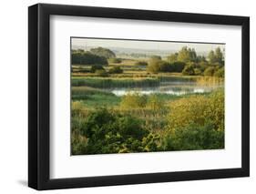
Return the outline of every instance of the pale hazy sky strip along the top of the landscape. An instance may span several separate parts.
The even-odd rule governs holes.
[[[100,39],[100,38],[77,38],[71,39],[73,46],[89,46],[89,47],[121,47],[133,49],[147,50],[179,50],[183,46],[195,48],[198,52],[208,52],[220,46],[223,50],[224,44],[208,44],[208,43],[180,43],[180,42],[159,42],[159,41],[139,41],[139,40],[120,40],[120,39]]]

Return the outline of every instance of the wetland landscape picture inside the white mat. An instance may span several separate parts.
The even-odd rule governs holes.
[[[71,155],[223,149],[225,44],[70,37]]]

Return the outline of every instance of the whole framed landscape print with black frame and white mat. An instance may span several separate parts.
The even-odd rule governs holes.
[[[250,174],[250,19],[28,8],[28,185]]]

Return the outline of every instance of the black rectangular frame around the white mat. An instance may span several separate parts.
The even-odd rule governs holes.
[[[241,168],[206,169],[87,178],[50,179],[49,19],[50,15],[241,26]],[[78,5],[37,4],[28,8],[28,186],[69,189],[179,180],[250,176],[250,18]]]

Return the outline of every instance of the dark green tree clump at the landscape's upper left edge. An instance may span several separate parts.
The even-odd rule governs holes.
[[[75,50],[71,56],[72,64],[79,65],[108,65],[108,60],[104,56],[97,56],[84,50]]]

